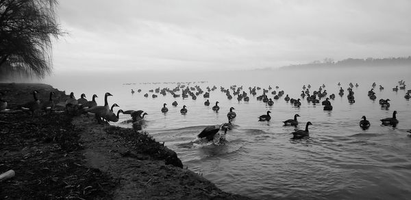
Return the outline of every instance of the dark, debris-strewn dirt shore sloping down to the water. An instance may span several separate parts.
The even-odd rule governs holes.
[[[249,199],[223,192],[184,168],[177,154],[145,132],[99,125],[92,116],[14,111],[65,92],[45,84],[0,84],[0,199]],[[77,94],[79,96],[79,94]],[[64,109],[62,109],[64,110]]]

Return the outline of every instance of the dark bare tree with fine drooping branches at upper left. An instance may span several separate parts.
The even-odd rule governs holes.
[[[0,0],[0,79],[51,73],[51,37],[62,35],[55,5],[56,0]]]

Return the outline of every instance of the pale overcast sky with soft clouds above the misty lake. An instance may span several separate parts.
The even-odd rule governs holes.
[[[232,70],[411,55],[411,1],[69,0],[56,72]]]

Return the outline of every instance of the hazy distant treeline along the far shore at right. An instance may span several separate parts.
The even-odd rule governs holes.
[[[411,56],[408,58],[347,58],[334,62],[331,58],[325,58],[323,62],[316,60],[308,64],[292,64],[282,68],[308,68],[308,67],[332,67],[332,66],[411,66]]]

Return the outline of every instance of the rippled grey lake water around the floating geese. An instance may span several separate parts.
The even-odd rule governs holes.
[[[75,92],[77,98],[81,93],[86,93],[88,99],[97,94],[98,103],[102,104],[104,92],[111,92],[114,96],[109,97],[110,104],[118,103],[123,110],[145,110],[148,113],[143,125],[145,130],[176,151],[185,166],[228,192],[258,199],[408,199],[411,195],[411,138],[406,132],[411,129],[410,101],[404,98],[405,90],[392,90],[401,79],[406,84],[411,82],[409,67],[191,75],[129,73],[104,78],[101,75],[99,79],[57,77],[46,82],[67,93]],[[140,84],[142,82],[161,84]],[[189,86],[199,85],[206,90],[207,86],[215,85],[217,89],[210,92],[210,106],[203,105],[206,99],[202,95],[197,100],[174,99],[169,94],[151,98],[153,93],[148,90],[177,86],[164,82],[196,82]],[[360,85],[353,88],[356,103],[348,103],[347,92],[343,97],[338,96],[338,82],[344,90],[349,82]],[[367,96],[373,82],[377,84],[377,101]],[[236,96],[228,100],[220,92],[220,86],[229,88],[234,84],[243,86],[247,93],[249,86],[266,89],[271,86],[273,90],[279,86],[278,90],[295,99],[300,97],[304,84],[311,84],[311,92],[325,84],[328,95],[336,94],[336,99],[330,100],[334,110],[323,111],[322,105],[306,100],[301,101],[300,108],[295,108],[284,101],[285,95],[274,100],[273,106],[250,95],[249,102],[238,102]],[[384,90],[378,89],[380,84]],[[140,88],[142,92],[132,95],[132,88]],[[273,97],[271,91],[267,94],[270,98]],[[143,97],[145,93],[149,93],[149,97]],[[258,90],[257,96],[261,94],[262,90]],[[382,109],[378,99],[390,99],[390,108]],[[173,101],[179,105],[173,107]],[[215,101],[220,102],[218,113],[211,109]],[[168,104],[166,114],[160,112],[163,103]],[[186,115],[179,112],[182,105],[187,106]],[[197,134],[207,125],[227,122],[227,112],[232,106],[237,117],[234,129],[227,132],[227,142],[199,143]],[[258,116],[267,110],[272,112],[271,121],[258,121]],[[391,117],[394,110],[398,112],[397,127],[382,126],[379,119]],[[282,121],[294,114],[301,116],[299,129],[304,129],[307,121],[312,122],[310,138],[290,139],[295,127],[284,127]],[[367,130],[358,125],[363,115],[371,122]],[[129,118],[121,115],[120,121]],[[131,127],[124,123],[114,125]]]

